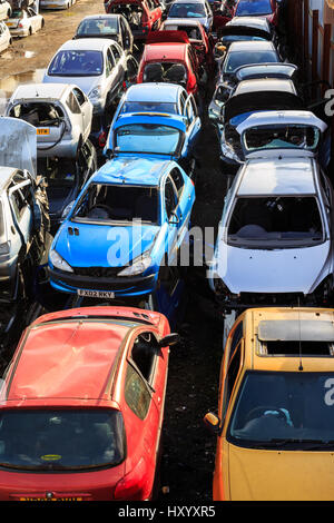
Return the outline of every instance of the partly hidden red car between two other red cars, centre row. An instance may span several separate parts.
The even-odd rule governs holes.
[[[212,71],[214,67],[212,43],[202,23],[196,19],[169,19],[161,26],[163,31],[184,31],[194,47],[199,65]]]

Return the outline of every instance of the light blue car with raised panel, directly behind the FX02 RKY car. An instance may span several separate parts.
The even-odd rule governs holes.
[[[105,147],[106,156],[176,160],[193,177],[194,149],[202,128],[194,97],[185,96],[185,90],[175,85],[168,86],[169,95],[166,85],[153,89],[151,85],[143,86],[132,86],[120,101]]]

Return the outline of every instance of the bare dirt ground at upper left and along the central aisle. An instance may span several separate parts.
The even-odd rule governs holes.
[[[69,11],[43,11],[46,26],[37,34],[16,40],[0,57],[0,89],[8,97],[17,82],[39,80],[57,49],[87,14],[104,12],[102,0],[79,0]],[[208,92],[207,99],[209,99]],[[198,145],[199,169],[193,225],[217,227],[228,177],[218,166],[216,135],[204,117]],[[223,324],[217,316],[204,269],[191,269],[187,282],[187,308],[179,333],[180,346],[171,347],[167,387],[161,486],[166,502],[212,500],[215,438],[203,416],[216,409]]]

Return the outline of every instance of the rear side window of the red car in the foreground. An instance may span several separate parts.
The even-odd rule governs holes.
[[[150,394],[137,371],[128,365],[125,381],[125,401],[140,420],[145,420],[150,405]]]

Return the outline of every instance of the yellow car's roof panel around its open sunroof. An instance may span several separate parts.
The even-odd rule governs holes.
[[[283,338],[288,338],[289,333],[297,330],[297,336],[292,336],[292,339],[293,337],[299,336],[303,338],[303,334],[307,332],[310,334],[310,329],[312,330],[312,328],[316,334],[314,341],[321,338],[322,334],[323,337],[326,338],[328,333],[333,329],[334,309],[313,307],[250,308],[244,314],[244,322],[246,326],[244,333],[246,332],[248,334],[245,337],[244,368],[252,371],[301,372],[299,355],[297,357],[286,357],[259,354],[258,339],[269,339],[276,330],[284,333]],[[274,322],[277,322],[277,325],[275,325]],[[281,325],[278,325],[278,322]],[[332,334],[330,334],[330,337]],[[275,336],[277,336],[277,334],[275,334]],[[312,335],[310,337],[312,337]],[[296,342],[297,341],[298,339],[296,339]],[[334,357],[330,354],[325,355],[325,357],[324,354],[321,354],[318,357],[303,357],[302,354],[302,364],[303,372],[334,371]]]

